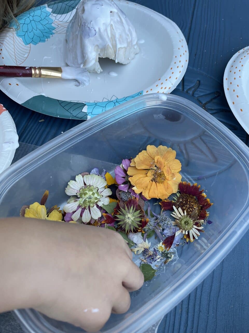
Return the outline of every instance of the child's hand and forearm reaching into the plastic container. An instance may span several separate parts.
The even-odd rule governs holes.
[[[34,219],[0,221],[0,311],[33,307],[98,331],[129,309],[143,274],[117,232]]]

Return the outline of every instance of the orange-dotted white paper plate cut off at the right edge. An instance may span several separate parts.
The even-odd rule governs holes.
[[[234,116],[249,134],[249,46],[235,53],[229,60],[223,85]]]

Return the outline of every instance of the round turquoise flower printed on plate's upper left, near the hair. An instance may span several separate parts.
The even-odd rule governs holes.
[[[19,29],[16,23],[12,23],[11,27],[17,29],[16,34],[22,38],[25,45],[37,45],[54,34],[53,19],[49,15],[46,6],[38,6],[17,17]]]

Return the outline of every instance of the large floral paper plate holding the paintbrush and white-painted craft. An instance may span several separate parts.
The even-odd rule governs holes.
[[[188,65],[188,47],[181,30],[149,8],[115,1],[138,36],[140,52],[130,64],[100,59],[103,72],[90,73],[87,87],[77,88],[71,80],[4,78],[1,90],[32,110],[72,119],[88,119],[143,94],[173,91]],[[19,30],[0,34],[0,64],[65,66],[66,27],[79,2],[56,1],[20,15]],[[118,76],[110,76],[110,72]]]

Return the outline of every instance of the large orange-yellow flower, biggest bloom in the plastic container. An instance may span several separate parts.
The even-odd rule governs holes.
[[[127,174],[135,193],[142,193],[146,199],[167,199],[178,190],[181,167],[176,151],[149,145],[131,161]]]

